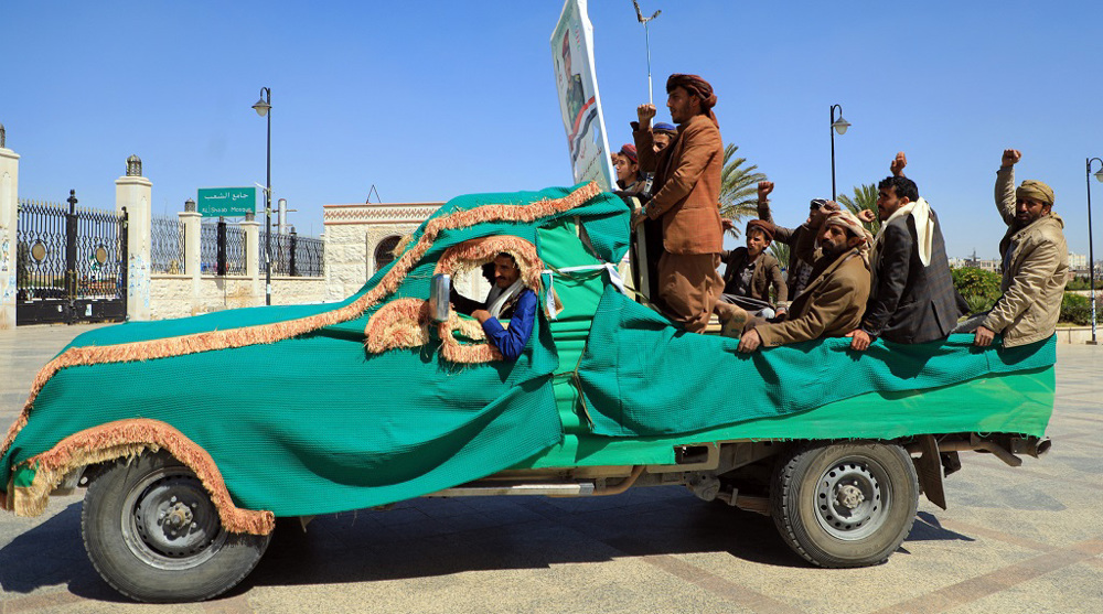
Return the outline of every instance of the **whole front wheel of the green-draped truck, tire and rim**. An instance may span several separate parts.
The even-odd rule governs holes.
[[[81,529],[99,575],[151,603],[203,601],[229,590],[271,538],[223,529],[195,474],[164,452],[104,470],[88,486]]]

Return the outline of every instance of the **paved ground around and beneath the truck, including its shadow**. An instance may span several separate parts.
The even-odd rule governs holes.
[[[87,327],[0,331],[0,421],[35,369]],[[963,456],[950,510],[925,499],[888,563],[811,568],[772,523],[681,488],[600,499],[422,499],[280,526],[245,582],[208,603],[122,601],[81,540],[79,496],[0,515],[0,612],[1103,611],[1103,348],[1058,347],[1053,450],[1010,468]]]

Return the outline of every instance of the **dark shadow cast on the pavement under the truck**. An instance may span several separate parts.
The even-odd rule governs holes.
[[[908,540],[972,538],[920,513]],[[298,519],[279,519],[257,569],[226,596],[258,585],[408,580],[697,552],[728,552],[767,565],[808,565],[782,542],[770,518],[706,504],[681,488],[590,499],[416,499],[387,511],[318,517],[306,532]],[[87,559],[79,502],[0,549],[6,593],[57,584],[85,599],[121,599]]]

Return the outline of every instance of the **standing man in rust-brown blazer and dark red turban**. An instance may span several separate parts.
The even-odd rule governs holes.
[[[640,170],[655,173],[651,202],[633,220],[662,219],[663,255],[658,259],[658,306],[686,331],[699,333],[708,324],[724,281],[716,268],[724,249],[720,213],[720,171],[724,142],[713,114],[716,95],[696,75],[671,75],[666,106],[678,133],[665,149],[654,150],[651,119],[654,105],[641,105],[633,132]]]

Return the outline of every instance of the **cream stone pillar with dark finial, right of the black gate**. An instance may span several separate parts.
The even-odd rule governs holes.
[[[127,159],[127,174],[115,180],[115,211],[127,208],[127,319],[149,320],[150,235],[153,184],[141,176],[141,160]]]

